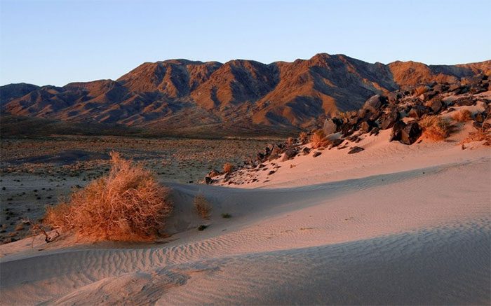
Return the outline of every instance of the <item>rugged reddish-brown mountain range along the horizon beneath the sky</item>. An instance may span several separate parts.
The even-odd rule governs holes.
[[[125,125],[163,134],[278,134],[357,110],[372,95],[490,73],[491,61],[370,64],[328,54],[271,64],[166,60],[144,63],[116,81],[5,85],[0,107],[3,115]]]

